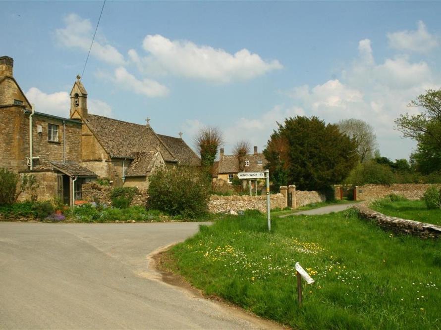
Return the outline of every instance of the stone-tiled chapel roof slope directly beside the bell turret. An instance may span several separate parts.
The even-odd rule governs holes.
[[[135,158],[136,152],[161,151],[166,162],[177,159],[150,126],[89,114],[86,123],[110,157]]]

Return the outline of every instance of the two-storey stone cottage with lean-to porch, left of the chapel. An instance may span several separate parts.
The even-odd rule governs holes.
[[[40,199],[73,204],[81,185],[97,175],[81,165],[80,121],[33,110],[12,74],[13,59],[0,57],[0,168],[32,173]],[[25,197],[25,196],[23,196]]]

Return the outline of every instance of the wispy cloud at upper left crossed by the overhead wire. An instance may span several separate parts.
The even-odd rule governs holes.
[[[55,30],[55,38],[58,43],[68,48],[79,48],[88,52],[94,28],[88,19],[82,19],[77,14],[69,14],[64,17],[65,27]],[[124,56],[113,46],[107,43],[103,37],[96,37],[91,55],[110,64],[123,65]]]

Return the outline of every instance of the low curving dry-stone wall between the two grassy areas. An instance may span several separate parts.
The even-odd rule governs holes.
[[[366,205],[357,205],[355,207],[358,209],[362,218],[375,221],[380,227],[392,230],[396,233],[405,233],[419,236],[421,238],[438,238],[441,236],[440,226],[414,220],[389,217],[380,212],[371,210]]]

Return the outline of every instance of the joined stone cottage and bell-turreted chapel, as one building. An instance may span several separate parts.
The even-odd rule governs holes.
[[[81,199],[82,184],[97,178],[144,190],[160,166],[200,166],[181,137],[156,134],[149,123],[89,114],[79,76],[70,93],[69,118],[34,111],[12,69],[13,59],[1,56],[0,168],[32,173],[39,199],[58,196],[72,205]]]

